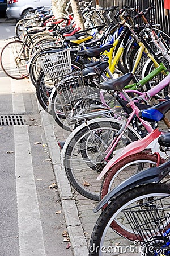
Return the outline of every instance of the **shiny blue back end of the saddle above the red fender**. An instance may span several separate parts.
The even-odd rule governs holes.
[[[141,111],[139,117],[148,122],[154,122],[162,120],[164,118],[164,114],[157,109],[145,109]]]

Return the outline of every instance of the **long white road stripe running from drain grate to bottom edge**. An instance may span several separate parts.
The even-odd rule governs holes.
[[[28,126],[14,125],[20,256],[45,255]]]

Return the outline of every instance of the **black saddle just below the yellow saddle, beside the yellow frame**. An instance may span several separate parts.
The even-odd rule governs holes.
[[[100,48],[90,48],[90,49],[78,52],[78,55],[99,58],[101,53],[103,53],[108,49],[111,49],[112,47],[113,47],[112,44],[109,44],[108,46],[102,46]]]

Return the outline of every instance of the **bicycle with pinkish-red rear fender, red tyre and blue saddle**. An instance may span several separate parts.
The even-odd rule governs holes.
[[[170,109],[169,104],[170,100],[167,100],[143,110],[141,117],[150,121],[163,120],[169,129],[170,121],[165,117],[165,113]],[[160,164],[163,164],[169,159],[170,148],[168,146],[160,146],[160,144],[165,145],[165,142],[161,143],[162,138],[164,138],[160,137],[162,134],[164,134],[162,129],[157,128],[153,130],[145,138],[141,139],[141,141],[135,141],[126,146],[120,155],[114,156],[108,162],[99,177],[97,177],[99,180],[104,176],[100,190],[101,199],[113,188],[117,187],[118,184],[122,183],[122,181],[128,179],[128,177],[147,168],[160,166]],[[106,206],[107,204],[104,205],[104,208]]]

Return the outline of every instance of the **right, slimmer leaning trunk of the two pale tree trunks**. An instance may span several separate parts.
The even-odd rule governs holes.
[[[84,20],[83,20],[82,14],[80,13],[78,1],[71,0],[70,2],[71,2],[73,15],[74,15],[74,20],[76,22],[76,27],[80,27],[82,28],[82,30],[84,30]]]

